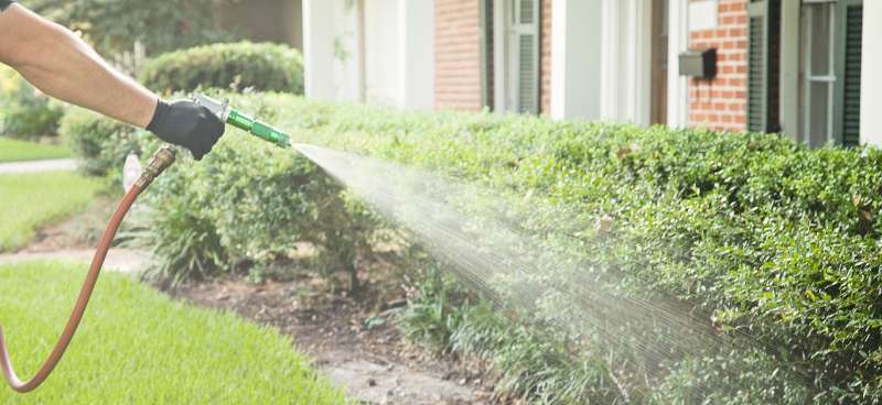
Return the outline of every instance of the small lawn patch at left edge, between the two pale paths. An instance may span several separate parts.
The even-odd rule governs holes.
[[[82,209],[100,187],[73,172],[0,175],[0,252],[23,247],[36,227]]]

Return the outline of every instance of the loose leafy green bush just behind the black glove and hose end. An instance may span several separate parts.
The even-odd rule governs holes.
[[[244,111],[268,111],[257,97],[227,96]],[[90,174],[115,179],[130,151],[147,161],[159,146],[146,131],[84,110],[65,117],[63,133]],[[355,262],[369,253],[376,219],[319,167],[232,128],[203,161],[185,156],[146,194],[154,209],[132,232],[160,259],[152,276],[181,282],[247,271],[305,242],[329,273],[347,272],[357,293]]]

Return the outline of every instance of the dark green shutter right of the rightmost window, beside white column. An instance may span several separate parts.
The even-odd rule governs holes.
[[[842,144],[856,146],[860,144],[863,6],[848,3],[843,13]]]

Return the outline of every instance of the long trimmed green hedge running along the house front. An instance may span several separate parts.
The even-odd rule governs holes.
[[[445,172],[518,200],[533,196],[535,210],[521,223],[534,223],[550,241],[576,237],[561,249],[604,264],[594,267],[610,272],[614,284],[678,297],[695,314],[708,314],[708,324],[747,333],[771,355],[789,359],[783,369],[810,381],[805,391],[783,382],[763,387],[756,384],[767,381],[744,372],[730,381],[756,386],[757,396],[728,392],[729,384],[714,403],[882,397],[878,149],[809,150],[766,134],[266,101],[306,142]],[[580,215],[561,223],[561,208]],[[614,221],[609,236],[580,236],[607,217]],[[774,364],[765,352],[717,354],[743,355],[739,370]],[[659,386],[719,374],[725,361],[684,359],[669,365],[677,373]],[[607,395],[598,393],[601,402]]]

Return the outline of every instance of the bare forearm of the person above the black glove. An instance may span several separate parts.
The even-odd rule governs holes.
[[[0,13],[0,62],[41,91],[146,128],[158,97],[111,68],[85,42],[21,6]]]

